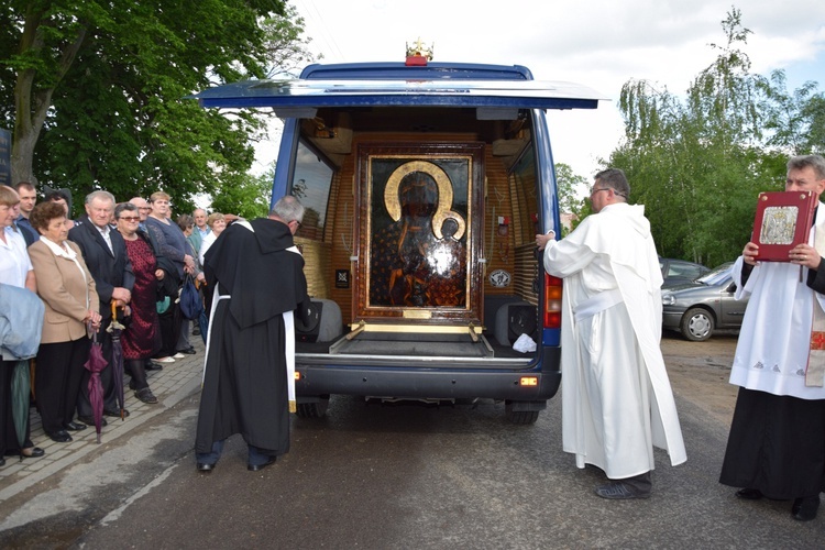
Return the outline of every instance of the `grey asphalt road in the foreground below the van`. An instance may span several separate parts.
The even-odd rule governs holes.
[[[230,440],[195,470],[198,396],[0,508],[2,548],[822,548],[825,517],[739,502],[717,482],[735,337],[666,337],[689,460],[657,451],[653,495],[608,502],[561,449],[561,400],[534,426],[504,405],[367,405],[333,397],[293,419],[292,451],[248,472]]]

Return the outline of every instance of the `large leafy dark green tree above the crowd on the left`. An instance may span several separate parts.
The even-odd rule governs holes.
[[[283,0],[16,0],[0,22],[14,52],[0,59],[0,95],[13,90],[15,105],[1,112],[14,125],[14,179],[36,172],[119,198],[164,189],[178,207],[245,174],[250,140],[265,131],[253,112],[226,117],[185,97],[308,55]]]

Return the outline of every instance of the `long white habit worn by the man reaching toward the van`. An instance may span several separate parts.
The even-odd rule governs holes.
[[[652,447],[688,460],[661,354],[661,271],[645,207],[608,205],[544,268],[564,279],[562,439],[576,465],[619,480],[653,470]]]

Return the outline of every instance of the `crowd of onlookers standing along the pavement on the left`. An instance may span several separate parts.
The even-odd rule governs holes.
[[[73,432],[95,425],[88,384],[92,374],[84,366],[92,341],[100,343],[108,363],[99,373],[101,424],[106,426],[105,417],[129,416],[116,395],[114,342],[107,331],[113,322],[123,327],[118,341],[123,382],[143,403],[157,403],[146,371],[196,353],[189,341],[191,320],[177,301],[187,277],[206,286],[200,248],[215,240],[207,212],[197,209],[173,220],[172,199],[162,191],[148,200],[118,202],[112,194],[97,190],[86,197],[85,213],[75,220],[65,190],[50,191],[38,202],[31,183],[0,186],[0,300],[18,306],[19,295],[10,298],[6,290],[26,289],[32,304],[42,304],[10,309],[13,322],[2,334],[0,465],[8,455],[45,454],[30,438],[32,405],[45,436],[56,442],[69,442]],[[6,343],[15,339],[29,345],[26,351],[8,349]],[[26,374],[30,367],[34,373],[24,396],[12,382],[21,362]],[[14,410],[21,399],[26,405],[24,422]]]

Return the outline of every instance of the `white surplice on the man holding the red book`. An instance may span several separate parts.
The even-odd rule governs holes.
[[[820,202],[809,244],[825,230],[825,205]],[[820,245],[817,244],[817,249]],[[743,258],[734,264],[734,280],[741,280]],[[802,280],[800,280],[802,270]],[[814,299],[825,296],[807,285],[807,267],[787,262],[758,262],[735,297],[750,297],[743,319],[730,383],[773,395],[825,399],[825,387],[805,386]]]

